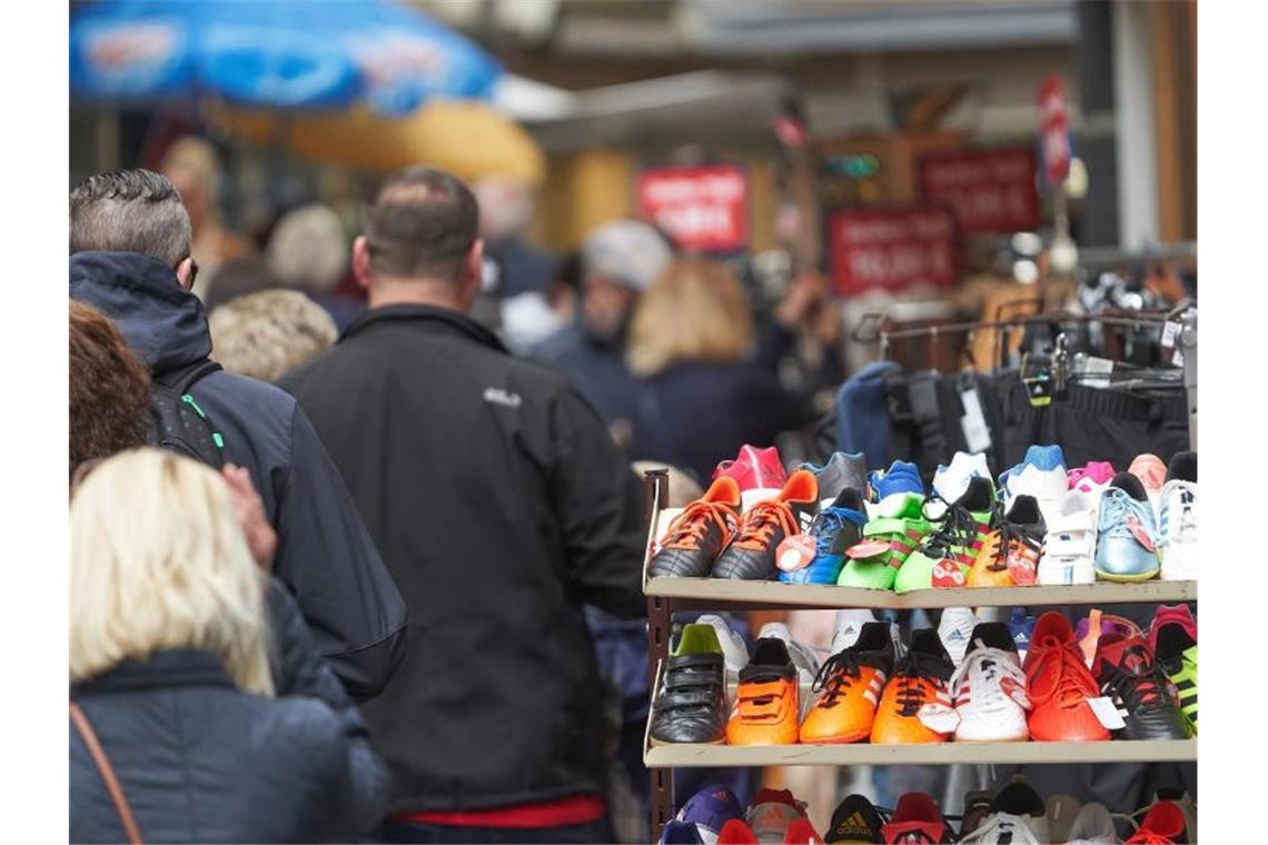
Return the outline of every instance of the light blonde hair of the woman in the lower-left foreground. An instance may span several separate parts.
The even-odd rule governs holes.
[[[120,452],[71,499],[71,680],[200,649],[241,689],[271,696],[265,579],[216,471],[155,448]]]

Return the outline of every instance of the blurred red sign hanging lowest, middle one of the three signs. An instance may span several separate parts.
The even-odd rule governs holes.
[[[832,286],[839,296],[956,283],[956,229],[942,208],[846,209],[828,218]]]

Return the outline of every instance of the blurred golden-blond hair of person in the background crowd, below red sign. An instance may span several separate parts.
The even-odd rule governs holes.
[[[677,258],[639,300],[626,364],[649,376],[673,364],[734,364],[753,342],[753,318],[739,280],[710,258]]]

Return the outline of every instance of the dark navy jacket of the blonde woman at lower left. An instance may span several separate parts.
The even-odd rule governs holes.
[[[216,656],[161,651],[71,687],[146,842],[346,841],[378,807],[351,745],[355,711],[238,690]],[[70,841],[126,841],[70,726]]]

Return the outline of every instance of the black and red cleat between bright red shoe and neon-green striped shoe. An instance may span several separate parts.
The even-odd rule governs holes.
[[[1118,708],[1129,740],[1187,740],[1188,720],[1175,702],[1172,682],[1141,636],[1102,633],[1092,671],[1101,692]]]

